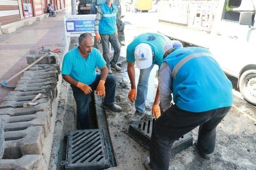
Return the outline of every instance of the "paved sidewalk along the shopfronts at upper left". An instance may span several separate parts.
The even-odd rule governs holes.
[[[28,66],[26,57],[29,51],[44,49],[59,49],[64,41],[64,15],[70,15],[71,10],[57,13],[56,17],[34,21],[32,25],[25,25],[10,34],[0,35],[0,82],[8,80],[13,75]],[[8,83],[16,86],[20,76]],[[0,86],[0,104],[11,90]]]

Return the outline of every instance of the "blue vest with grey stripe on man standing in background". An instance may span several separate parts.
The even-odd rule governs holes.
[[[112,4],[112,9],[104,2],[100,6],[103,16],[99,22],[99,33],[112,35],[117,31],[116,28],[116,6]]]

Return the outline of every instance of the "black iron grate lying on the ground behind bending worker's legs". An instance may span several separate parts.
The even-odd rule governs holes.
[[[131,123],[126,133],[147,150],[150,150],[150,138],[155,120],[156,118],[150,118],[149,120]],[[175,154],[181,152],[191,145],[193,145],[193,136],[192,133],[189,132],[173,143],[171,153]]]

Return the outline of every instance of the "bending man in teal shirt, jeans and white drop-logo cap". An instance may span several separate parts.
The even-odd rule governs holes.
[[[128,98],[131,102],[135,101],[135,114],[131,122],[140,121],[144,118],[145,102],[148,93],[148,78],[154,64],[160,68],[164,56],[164,45],[170,41],[168,37],[161,33],[143,33],[136,37],[126,50],[126,59],[128,61],[127,72],[131,82],[131,90]],[[140,69],[140,77],[135,85],[134,65]],[[159,92],[156,90],[156,98],[152,106],[152,115],[160,115]]]

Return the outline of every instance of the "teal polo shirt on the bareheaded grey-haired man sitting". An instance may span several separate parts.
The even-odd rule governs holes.
[[[92,52],[87,59],[84,59],[77,47],[68,51],[64,56],[61,73],[90,85],[96,78],[96,66],[102,68],[105,65],[106,62],[98,49],[92,48]]]

